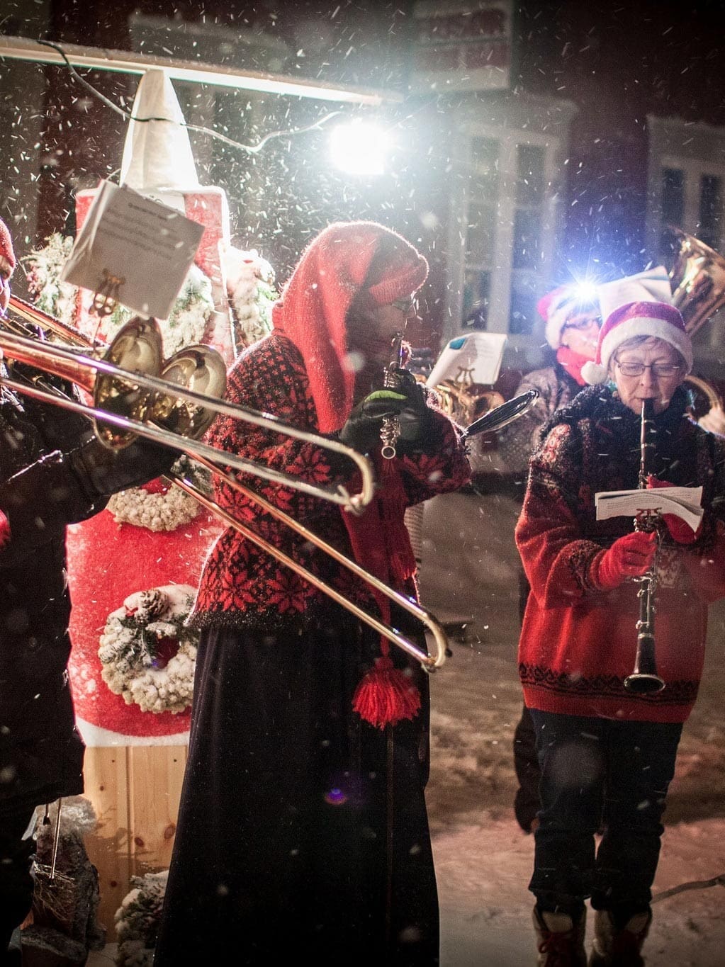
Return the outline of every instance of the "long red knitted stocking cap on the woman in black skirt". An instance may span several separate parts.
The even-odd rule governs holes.
[[[347,312],[412,295],[428,262],[402,235],[375,221],[336,221],[302,253],[272,309],[305,361],[322,433],[340,429],[352,409],[355,374],[347,362]]]

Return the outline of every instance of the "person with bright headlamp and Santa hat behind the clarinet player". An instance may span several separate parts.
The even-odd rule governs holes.
[[[575,285],[562,285],[537,304],[544,320],[546,340],[556,353],[552,366],[534,369],[522,379],[516,393],[536,390],[538,398],[519,419],[498,434],[498,454],[504,469],[514,477],[517,494],[523,499],[529,468],[539,430],[561,406],[566,406],[587,383],[582,366],[593,360],[601,325],[599,303],[583,298]],[[524,616],[529,582],[519,574],[519,618]],[[525,833],[536,823],[539,808],[539,767],[536,759],[533,725],[526,706],[514,729],[514,768],[518,786],[514,795],[514,815]]]

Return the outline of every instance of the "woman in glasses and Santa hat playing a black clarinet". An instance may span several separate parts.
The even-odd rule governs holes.
[[[725,439],[688,415],[691,367],[678,309],[616,309],[583,369],[594,385],[542,428],[531,458],[516,542],[531,586],[519,672],[541,769],[529,883],[540,965],[588,963],[587,898],[590,967],[644,963],[668,784],[700,683],[708,605],[725,595]],[[696,533],[667,513],[649,533],[631,517],[596,519],[597,492],[639,485],[646,399],[656,429],[648,485],[702,485]],[[638,694],[623,683],[637,648],[636,578],[650,566],[665,686]]]

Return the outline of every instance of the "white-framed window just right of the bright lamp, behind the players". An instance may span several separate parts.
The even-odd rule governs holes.
[[[477,329],[540,342],[536,302],[559,235],[567,104],[502,99],[487,104],[485,125],[459,110],[446,337]],[[556,130],[547,124],[552,116],[560,118]]]

